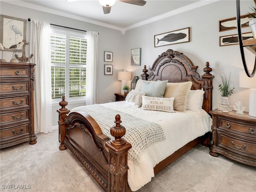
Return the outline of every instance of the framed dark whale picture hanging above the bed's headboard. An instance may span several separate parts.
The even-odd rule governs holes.
[[[183,28],[154,36],[154,46],[160,47],[171,44],[190,42],[190,28]]]

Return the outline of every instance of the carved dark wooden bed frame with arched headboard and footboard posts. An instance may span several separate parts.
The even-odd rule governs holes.
[[[212,108],[212,79],[214,78],[210,74],[212,68],[206,62],[206,67],[203,69],[205,74],[202,76],[196,72],[197,68],[198,66],[194,66],[184,54],[168,49],[154,61],[150,74],[144,66],[141,76],[144,80],[152,81],[192,81],[192,90],[204,89],[203,109],[209,113]],[[120,116],[116,115],[115,121],[113,119],[116,126],[110,129],[110,133],[114,136],[110,140],[102,133],[90,115],[81,115],[76,112],[68,114],[70,110],[66,108],[67,104],[65,96],[62,96],[61,108],[57,110],[59,113],[59,149],[68,148],[105,191],[130,191],[127,182],[127,157],[128,150],[132,146],[122,138],[126,130],[120,124],[122,122]],[[210,133],[196,138],[164,159],[155,166],[154,173],[157,174],[199,143],[209,146]]]

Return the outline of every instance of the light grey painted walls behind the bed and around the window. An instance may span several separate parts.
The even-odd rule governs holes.
[[[249,7],[253,6],[252,0],[241,1],[241,15],[250,11]],[[248,111],[248,89],[239,88],[239,71],[243,70],[240,50],[238,45],[219,46],[219,37],[225,35],[237,34],[237,30],[228,30],[219,32],[219,20],[236,16],[235,0],[220,0],[212,4],[208,4],[187,12],[176,14],[169,18],[164,18],[132,30],[128,30],[124,35],[120,31],[97,26],[94,24],[56,16],[45,12],[40,12],[12,4],[0,2],[0,12],[3,15],[13,16],[23,19],[44,20],[46,22],[81,30],[99,32],[99,58],[98,58],[98,92],[99,103],[114,101],[114,93],[120,92],[121,82],[117,80],[117,72],[120,70],[132,71],[132,76],[140,76],[143,66],[152,66],[154,60],[159,54],[167,49],[173,49],[183,52],[194,65],[198,65],[198,73],[204,74],[202,69],[205,63],[210,62],[213,68],[212,74],[215,76],[213,81],[213,109],[217,108],[220,103],[221,95],[218,91],[218,83],[220,82],[219,72],[229,75],[231,72],[231,80],[234,82],[234,94],[230,96],[230,104],[238,101],[246,106]],[[12,11],[15,10],[15,11]],[[182,44],[174,44],[154,48],[154,35],[181,28],[190,27],[190,42]],[[242,32],[249,32],[250,28],[243,28]],[[30,40],[30,22],[27,22],[27,38]],[[130,50],[132,48],[142,48],[142,66],[130,65]],[[113,52],[113,75],[104,76],[104,51]],[[26,53],[27,56],[30,52]],[[12,58],[12,53],[4,52],[4,58],[8,61]],[[254,63],[254,60],[249,60]],[[68,108],[73,108],[80,104],[69,104]],[[57,125],[58,106],[53,106],[53,124]]]

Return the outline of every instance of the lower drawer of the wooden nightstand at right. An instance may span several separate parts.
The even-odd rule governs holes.
[[[256,156],[256,142],[250,140],[240,140],[239,138],[223,134],[218,134],[218,146],[228,148],[238,154],[252,154]]]

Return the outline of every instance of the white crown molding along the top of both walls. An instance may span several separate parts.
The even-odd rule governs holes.
[[[127,26],[125,28],[121,28],[121,27],[118,27],[118,26],[106,24],[106,23],[99,22],[99,21],[96,21],[96,20],[84,18],[84,17],[81,17],[81,16],[76,16],[76,15],[73,15],[73,14],[68,14],[68,13],[61,12],[61,11],[56,11],[56,10],[53,10],[53,9],[50,9],[50,8],[45,8],[43,6],[38,6],[38,5],[35,5],[35,4],[32,4],[32,3],[29,3],[29,2],[22,2],[20,0],[14,0],[14,1],[1,0],[1,1],[5,2],[5,3],[9,3],[9,4],[14,4],[14,5],[17,5],[17,6],[22,6],[22,7],[42,11],[42,12],[47,12],[47,13],[50,13],[50,14],[55,14],[55,15],[59,15],[59,16],[63,16],[63,17],[68,17],[68,18],[80,20],[80,21],[83,21],[83,22],[88,22],[88,23],[91,23],[91,24],[103,26],[103,27],[106,27],[106,28],[111,28],[111,29],[114,29],[114,30],[119,30],[119,31],[122,32],[122,34],[124,34],[127,30],[137,28],[137,27],[140,27],[140,26],[143,26],[143,25],[146,25],[146,24],[149,24],[149,23],[152,23],[152,22],[155,22],[155,21],[173,16],[173,15],[176,15],[176,14],[180,14],[182,12],[186,12],[188,10],[192,10],[192,9],[195,9],[195,8],[207,5],[207,4],[211,4],[211,3],[219,1],[219,0],[201,0],[199,2],[190,4],[188,6],[184,6],[182,8],[178,8],[176,10],[172,10],[170,12],[155,16],[153,18],[144,20],[142,22],[138,22],[136,24]]]

